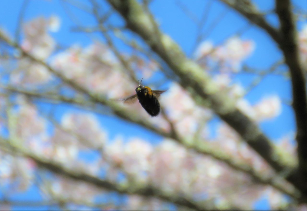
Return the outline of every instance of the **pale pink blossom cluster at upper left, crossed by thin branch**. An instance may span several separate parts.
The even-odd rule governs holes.
[[[25,23],[21,48],[37,59],[47,59],[56,47],[56,42],[49,35],[48,30],[55,32],[59,28],[59,22],[58,17],[52,16],[49,19],[35,18]],[[17,68],[10,75],[11,83],[17,85],[33,86],[44,84],[51,79],[52,76],[45,66],[22,55],[17,61]]]

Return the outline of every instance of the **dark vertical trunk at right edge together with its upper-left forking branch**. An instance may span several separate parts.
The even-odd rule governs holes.
[[[237,10],[252,23],[264,29],[284,54],[289,67],[292,82],[293,110],[297,125],[297,151],[299,157],[299,170],[289,176],[289,180],[307,196],[307,94],[304,70],[299,61],[297,47],[297,33],[295,20],[292,14],[290,0],[276,0],[276,13],[280,20],[280,29],[277,30],[266,22],[263,16],[247,0],[221,0],[228,6]],[[307,198],[307,197],[306,197]],[[307,201],[307,199],[305,199]]]

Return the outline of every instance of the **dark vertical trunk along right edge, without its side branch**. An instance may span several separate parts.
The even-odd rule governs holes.
[[[304,69],[300,63],[297,30],[290,0],[276,0],[282,41],[278,42],[289,66],[293,93],[293,110],[297,125],[298,177],[307,195],[307,94]],[[306,199],[307,201],[307,199]]]

